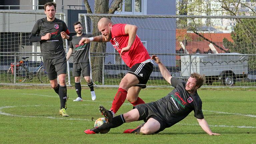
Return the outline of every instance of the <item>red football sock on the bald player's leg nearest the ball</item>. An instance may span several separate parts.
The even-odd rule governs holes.
[[[112,107],[110,110],[112,110],[114,113],[116,113],[121,105],[124,103],[127,96],[127,91],[122,88],[118,88],[118,91],[116,93],[116,96],[112,102]]]

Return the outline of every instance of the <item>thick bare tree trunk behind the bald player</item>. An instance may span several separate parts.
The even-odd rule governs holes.
[[[94,1],[94,13],[95,14],[113,14],[118,8],[119,4],[122,3],[122,0],[113,0],[111,6],[109,7],[109,0],[95,0]],[[84,0],[87,13],[92,13],[88,0]],[[97,36],[101,35],[97,28],[97,23],[100,18],[92,18],[92,35]],[[91,44],[91,53],[105,53],[106,52],[106,43],[92,42]],[[102,64],[103,57],[92,57],[91,66],[92,66],[92,77],[94,82],[102,82]]]

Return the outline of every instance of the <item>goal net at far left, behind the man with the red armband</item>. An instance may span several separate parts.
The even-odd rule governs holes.
[[[44,12],[0,11],[0,84],[49,85],[40,42],[30,43],[31,30]],[[63,13],[56,18],[64,21]],[[66,41],[64,41],[66,49]],[[69,75],[67,85],[70,85]]]

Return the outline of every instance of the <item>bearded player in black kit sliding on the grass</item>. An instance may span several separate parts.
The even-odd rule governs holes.
[[[85,130],[84,133],[96,134],[102,130],[118,127],[125,122],[144,120],[146,123],[139,125],[135,129],[127,129],[124,133],[154,134],[173,126],[194,111],[194,116],[199,125],[207,134],[220,135],[213,133],[209,128],[202,112],[202,101],[197,94],[197,89],[205,83],[205,76],[193,73],[188,81],[185,82],[172,77],[156,55],[151,58],[158,64],[161,74],[174,89],[167,96],[155,102],[136,105],[134,106],[135,109],[114,117],[112,122]]]

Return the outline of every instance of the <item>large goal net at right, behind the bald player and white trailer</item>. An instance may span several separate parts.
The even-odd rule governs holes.
[[[100,35],[102,17],[136,25],[150,56],[174,77],[186,80],[197,72],[206,76],[206,86],[255,86],[255,17],[79,14],[84,32]],[[94,82],[119,85],[129,67],[112,44],[91,42],[90,52]],[[147,86],[167,85],[154,64]]]

